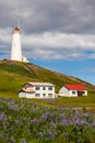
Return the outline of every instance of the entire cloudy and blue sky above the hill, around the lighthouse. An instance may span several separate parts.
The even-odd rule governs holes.
[[[95,85],[95,0],[0,0],[0,59],[19,20],[31,63]]]

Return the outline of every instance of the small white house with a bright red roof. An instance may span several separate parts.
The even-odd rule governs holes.
[[[59,97],[81,97],[87,96],[87,89],[83,85],[66,84],[59,90]]]

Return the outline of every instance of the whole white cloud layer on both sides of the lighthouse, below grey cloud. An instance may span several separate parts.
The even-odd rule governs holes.
[[[0,51],[11,48],[12,30],[0,30]],[[8,46],[9,45],[9,46]],[[95,58],[95,35],[44,32],[41,34],[22,33],[23,53],[37,58],[79,59]],[[9,48],[9,50],[8,50]],[[87,53],[91,51],[91,53]]]

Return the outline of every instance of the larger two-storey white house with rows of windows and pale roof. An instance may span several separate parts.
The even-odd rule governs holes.
[[[19,92],[20,98],[55,98],[55,85],[49,82],[26,82]]]

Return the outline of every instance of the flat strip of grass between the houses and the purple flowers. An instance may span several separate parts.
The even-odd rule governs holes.
[[[22,100],[17,97],[17,92],[12,94],[8,92],[7,95],[4,92],[1,92],[0,97],[3,98],[13,98]],[[86,108],[87,110],[92,110],[95,112],[95,92],[88,92],[88,96],[86,97],[62,97],[62,98],[56,98],[56,99],[26,99],[28,102],[35,102],[37,105],[41,106],[48,106],[48,107],[61,107],[61,108],[78,108],[83,109]]]

